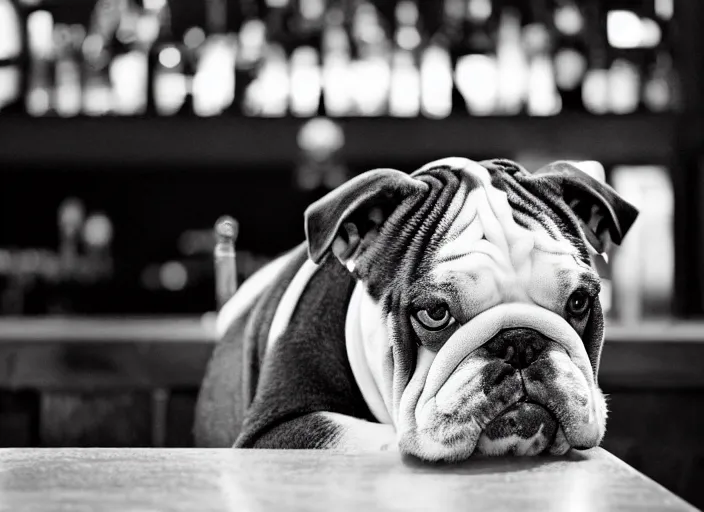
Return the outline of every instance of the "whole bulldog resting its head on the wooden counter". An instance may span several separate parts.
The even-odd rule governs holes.
[[[599,445],[593,256],[637,215],[596,162],[446,158],[351,179],[220,311],[197,445],[426,461]]]

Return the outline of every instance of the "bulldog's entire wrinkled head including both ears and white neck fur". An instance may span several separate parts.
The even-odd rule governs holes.
[[[529,173],[464,158],[373,170],[309,207],[311,259],[331,252],[358,281],[348,353],[402,452],[456,461],[601,442],[590,254],[636,216],[599,164]]]

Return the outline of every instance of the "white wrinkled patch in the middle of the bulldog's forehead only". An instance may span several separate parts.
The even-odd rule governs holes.
[[[444,270],[476,273],[493,265],[505,273],[554,273],[555,280],[574,281],[591,270],[582,257],[578,234],[569,233],[546,197],[526,190],[519,179],[524,170],[513,173],[487,169],[466,158],[431,162],[415,176],[454,173],[459,187],[439,226],[441,236],[427,263],[435,273]]]

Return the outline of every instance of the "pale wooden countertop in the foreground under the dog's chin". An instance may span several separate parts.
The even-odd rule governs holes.
[[[3,449],[2,511],[689,511],[602,449],[431,466],[397,453]]]

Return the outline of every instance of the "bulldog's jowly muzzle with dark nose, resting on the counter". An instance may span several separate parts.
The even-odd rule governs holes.
[[[606,408],[586,349],[557,314],[502,304],[436,353],[420,348],[399,404],[402,451],[427,460],[561,454],[601,442]]]

